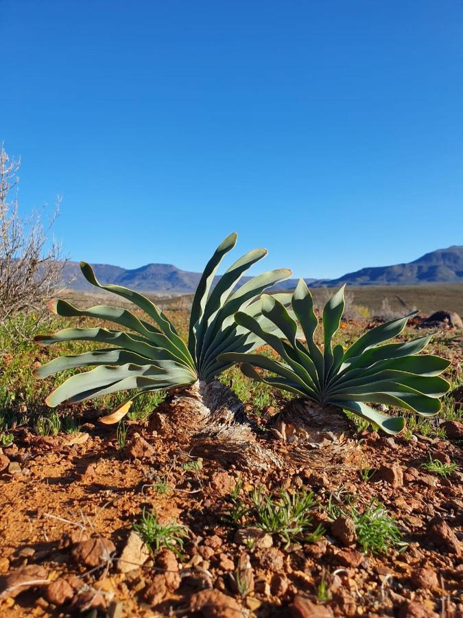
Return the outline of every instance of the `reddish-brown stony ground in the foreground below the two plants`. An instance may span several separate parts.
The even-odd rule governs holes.
[[[173,405],[129,421],[125,439],[91,414],[74,433],[14,430],[0,451],[1,616],[463,617],[462,422],[394,438],[349,422],[308,444],[268,431],[272,409],[256,440],[274,459],[244,466],[198,456]],[[305,501],[301,529],[264,525],[259,504],[278,516],[284,496]],[[143,511],[161,529],[151,547],[134,529]]]

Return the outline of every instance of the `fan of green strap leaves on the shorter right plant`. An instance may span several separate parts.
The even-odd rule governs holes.
[[[302,279],[294,290],[291,304],[304,332],[305,343],[298,339],[297,323],[285,307],[278,299],[267,295],[261,300],[262,315],[283,336],[270,332],[245,312],[237,312],[235,320],[268,343],[282,360],[226,352],[219,356],[219,361],[242,363],[241,371],[250,378],[307,397],[320,406],[333,405],[349,410],[390,434],[402,431],[404,418],[381,414],[366,402],[389,404],[422,416],[438,413],[439,397],[449,390],[449,383],[438,375],[450,363],[440,356],[419,354],[431,336],[381,345],[402,332],[409,317],[416,312],[372,328],[346,350],[342,345],[333,347],[333,336],[344,312],[343,286],[324,307],[324,345],[320,350],[314,341],[318,318],[311,293]],[[272,375],[258,372],[254,367]]]

